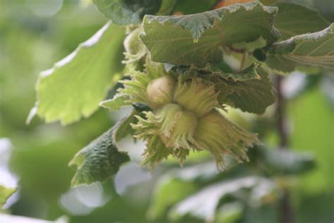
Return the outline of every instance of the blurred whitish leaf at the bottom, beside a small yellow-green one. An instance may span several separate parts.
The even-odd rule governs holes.
[[[172,219],[180,219],[184,215],[192,215],[207,222],[212,222],[221,198],[242,188],[252,188],[259,181],[261,179],[256,176],[247,176],[207,186],[202,191],[175,205],[170,212],[170,217]]]

